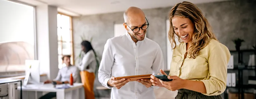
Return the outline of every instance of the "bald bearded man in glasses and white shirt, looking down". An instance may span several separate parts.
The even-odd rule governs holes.
[[[130,7],[124,13],[127,32],[108,39],[104,47],[98,78],[103,86],[112,88],[111,99],[155,99],[150,79],[115,80],[131,75],[156,75],[164,68],[160,46],[145,37],[149,26],[144,12]]]

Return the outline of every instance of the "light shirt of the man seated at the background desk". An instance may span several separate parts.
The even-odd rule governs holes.
[[[74,79],[73,81],[78,82],[79,81],[78,77],[80,77],[79,73],[80,73],[80,71],[79,71],[78,67],[76,67],[76,66],[68,66],[67,67],[66,66],[66,67],[63,67],[62,69],[59,69],[58,75],[54,80],[62,81],[62,82],[70,81],[70,74],[72,74],[73,79]]]

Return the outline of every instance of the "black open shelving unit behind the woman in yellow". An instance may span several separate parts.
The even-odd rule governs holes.
[[[253,50],[253,49],[240,50],[239,52],[235,51],[235,50],[230,50],[230,53],[235,53],[235,54],[238,53],[239,54],[238,56],[239,56],[240,60],[238,59],[238,61],[242,62],[242,63],[243,63],[243,53],[246,53],[246,52],[251,52],[251,53],[254,52],[254,54],[256,54],[256,51]],[[241,95],[241,98],[244,99],[244,89],[246,89],[246,88],[254,88],[254,89],[256,89],[256,85],[254,85],[254,84],[243,84],[243,71],[244,70],[254,70],[254,73],[255,73],[255,76],[256,76],[256,68],[255,68],[255,66],[252,66],[254,68],[248,68],[247,65],[245,65],[245,64],[242,64],[242,65],[244,66],[243,68],[239,68],[238,65],[234,65],[234,69],[228,69],[228,72],[230,72],[230,71],[238,71],[238,84],[236,84],[235,87],[226,87],[226,90],[224,92],[224,98],[225,99],[228,99],[227,88],[238,88],[238,99],[240,99],[240,95]]]

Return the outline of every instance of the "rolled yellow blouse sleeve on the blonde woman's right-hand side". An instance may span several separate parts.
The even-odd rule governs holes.
[[[201,80],[206,88],[207,96],[216,96],[223,93],[227,84],[227,64],[230,58],[229,49],[222,45],[216,45],[208,58],[209,76],[207,80]]]

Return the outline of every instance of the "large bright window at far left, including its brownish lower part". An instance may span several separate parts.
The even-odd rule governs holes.
[[[0,0],[0,78],[24,75],[35,59],[34,7]]]

